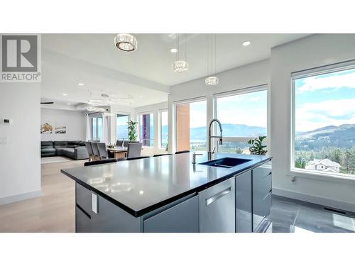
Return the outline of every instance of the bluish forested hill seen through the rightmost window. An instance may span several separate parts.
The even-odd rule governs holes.
[[[296,150],[317,150],[318,148],[351,148],[355,143],[355,124],[325,126],[314,131],[296,134]]]

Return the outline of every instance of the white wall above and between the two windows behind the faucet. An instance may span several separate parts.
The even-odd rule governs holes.
[[[207,125],[214,118],[213,94],[229,92],[236,89],[245,89],[263,84],[270,80],[270,61],[262,60],[242,67],[236,67],[216,74],[219,77],[219,84],[207,86],[204,79],[194,79],[190,82],[171,87],[168,99],[169,108],[169,147],[170,152],[175,152],[175,113],[173,102],[185,99],[192,99],[201,96],[207,97]],[[170,126],[171,125],[171,126]],[[268,126],[268,128],[270,128]],[[268,135],[270,135],[268,133]]]

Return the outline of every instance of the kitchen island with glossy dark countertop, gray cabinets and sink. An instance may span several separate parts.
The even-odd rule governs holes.
[[[271,208],[271,157],[212,160],[182,153],[61,170],[76,182],[76,231],[257,231]]]

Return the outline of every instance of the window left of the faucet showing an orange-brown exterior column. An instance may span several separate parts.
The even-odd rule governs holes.
[[[206,150],[207,101],[176,105],[176,150]]]

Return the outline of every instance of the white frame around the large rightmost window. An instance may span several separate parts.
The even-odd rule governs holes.
[[[330,74],[334,72],[340,72],[344,70],[355,70],[355,60],[349,60],[346,62],[339,62],[332,65],[324,65],[322,67],[314,67],[308,70],[302,70],[290,73],[290,161],[289,170],[290,175],[297,174],[300,177],[310,176],[312,178],[320,177],[324,180],[324,177],[329,178],[329,180],[334,179],[348,179],[354,181],[354,174],[343,174],[343,173],[330,173],[322,172],[316,170],[306,170],[295,167],[295,80],[302,79],[305,77],[315,77],[320,74]]]

